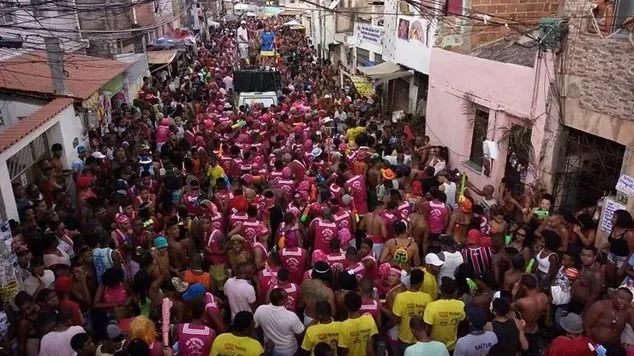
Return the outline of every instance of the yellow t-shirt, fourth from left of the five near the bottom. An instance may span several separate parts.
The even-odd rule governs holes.
[[[407,344],[416,342],[416,338],[409,327],[410,319],[418,315],[423,317],[425,307],[431,303],[431,297],[427,293],[406,291],[396,295],[392,313],[401,317],[401,323],[398,327],[398,339]]]

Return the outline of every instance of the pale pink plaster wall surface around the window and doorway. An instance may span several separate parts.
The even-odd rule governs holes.
[[[546,61],[548,63],[546,64]],[[434,48],[431,55],[427,98],[427,135],[432,144],[450,148],[449,166],[465,171],[477,187],[498,187],[504,177],[507,147],[500,144],[500,155],[491,174],[484,174],[463,164],[471,150],[473,117],[465,94],[489,110],[487,139],[500,140],[505,127],[532,122],[531,141],[539,157],[546,123],[548,78],[545,68],[553,68],[552,58],[536,59],[534,68],[495,62]],[[536,165],[537,166],[537,165]],[[529,170],[527,181],[539,177]]]

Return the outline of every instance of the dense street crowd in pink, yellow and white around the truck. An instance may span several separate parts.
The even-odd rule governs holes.
[[[478,189],[281,24],[223,23],[14,184],[1,354],[634,354],[630,213],[597,249],[595,207]],[[277,104],[234,106],[238,62]]]

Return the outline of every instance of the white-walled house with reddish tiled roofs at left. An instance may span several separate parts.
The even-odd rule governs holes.
[[[110,122],[113,105],[129,98],[127,88],[138,86],[135,75],[143,73],[135,71],[138,61],[66,54],[68,77],[54,85],[48,61],[35,51],[1,64],[7,69],[0,76],[0,220],[19,218],[12,184],[36,183],[37,163],[50,157],[54,143],[62,144],[62,162],[70,167],[88,131]],[[59,85],[65,90],[56,91]]]

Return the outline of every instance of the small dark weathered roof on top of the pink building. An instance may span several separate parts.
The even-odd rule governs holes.
[[[469,53],[478,58],[533,67],[539,43],[526,36],[505,37],[476,47]]]

